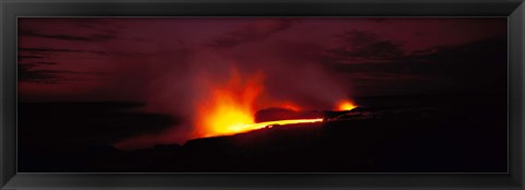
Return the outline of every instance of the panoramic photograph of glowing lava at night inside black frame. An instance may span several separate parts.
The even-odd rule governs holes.
[[[19,17],[19,173],[506,173],[508,17]]]

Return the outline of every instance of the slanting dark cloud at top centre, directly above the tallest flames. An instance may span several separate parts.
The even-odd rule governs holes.
[[[290,28],[293,23],[294,21],[291,19],[261,20],[240,29],[217,36],[209,45],[215,48],[232,48],[243,43],[261,40],[275,33]]]

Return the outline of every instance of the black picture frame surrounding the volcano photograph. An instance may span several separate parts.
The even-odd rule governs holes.
[[[523,189],[523,0],[1,0],[1,189]],[[20,16],[508,16],[508,174],[18,174],[16,17]],[[37,158],[37,157],[35,157]]]

